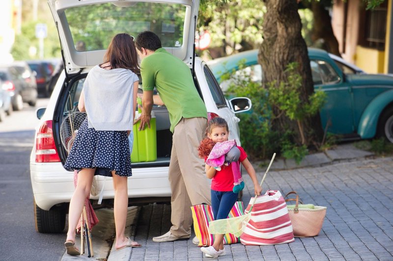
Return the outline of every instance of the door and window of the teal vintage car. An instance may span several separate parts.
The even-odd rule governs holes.
[[[315,91],[324,91],[326,103],[320,110],[322,127],[335,134],[355,131],[353,121],[353,95],[351,86],[343,80],[335,65],[322,58],[310,57]],[[341,75],[340,75],[341,74]]]

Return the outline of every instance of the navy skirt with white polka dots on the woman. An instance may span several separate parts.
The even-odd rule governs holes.
[[[132,176],[127,132],[88,128],[86,118],[64,167],[77,170],[96,168],[94,175],[108,177],[112,177],[112,170],[119,176]]]

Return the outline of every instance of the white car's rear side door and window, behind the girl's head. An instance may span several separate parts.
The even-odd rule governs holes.
[[[203,73],[205,75],[213,100],[217,106],[218,115],[221,118],[224,118],[225,121],[228,123],[228,128],[230,130],[229,139],[235,139],[238,145],[240,145],[238,125],[240,119],[236,117],[235,113],[228,106],[227,100],[225,99],[224,93],[220,85],[218,84],[216,78],[213,76],[212,72],[206,64],[203,64]]]

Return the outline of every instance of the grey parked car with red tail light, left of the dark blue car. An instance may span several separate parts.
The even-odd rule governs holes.
[[[0,79],[4,82],[3,89],[8,91],[11,96],[12,108],[21,110],[23,103],[35,106],[37,102],[37,86],[30,84],[29,79],[13,64],[0,66]]]

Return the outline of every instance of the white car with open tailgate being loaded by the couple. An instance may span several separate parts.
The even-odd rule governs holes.
[[[87,73],[94,65],[103,62],[106,47],[117,33],[136,36],[141,31],[151,30],[159,35],[163,47],[189,65],[208,116],[225,118],[230,138],[240,144],[239,118],[235,113],[249,110],[252,104],[248,98],[226,100],[206,63],[195,56],[193,45],[199,0],[48,2],[58,28],[65,69],[48,106],[37,110],[40,124],[30,157],[30,175],[38,232],[59,233],[65,227],[74,181],[73,171],[64,168],[67,153],[61,145],[60,125],[77,105]],[[157,159],[132,162],[133,176],[128,178],[130,205],[169,201],[171,196],[168,165],[172,134],[168,110],[165,106],[154,106],[153,111],[157,122]],[[101,187],[105,183],[103,206],[111,206],[114,197],[112,179],[99,176],[98,181]],[[94,205],[98,202],[98,195],[90,199]]]

